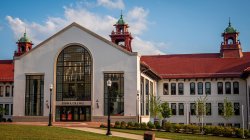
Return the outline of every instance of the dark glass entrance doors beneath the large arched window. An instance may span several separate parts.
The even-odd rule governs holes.
[[[56,121],[90,121],[90,106],[58,106]]]

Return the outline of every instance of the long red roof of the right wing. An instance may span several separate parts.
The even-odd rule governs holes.
[[[242,58],[220,58],[219,53],[142,56],[161,78],[240,77],[250,67],[250,52]]]

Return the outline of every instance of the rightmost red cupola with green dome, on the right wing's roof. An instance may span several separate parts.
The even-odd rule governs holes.
[[[240,41],[238,40],[239,32],[231,25],[230,19],[228,27],[222,33],[224,38],[221,43],[220,56],[222,58],[241,58],[243,57]]]

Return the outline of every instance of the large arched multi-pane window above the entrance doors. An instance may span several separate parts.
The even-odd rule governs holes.
[[[89,52],[72,45],[60,53],[56,69],[57,101],[91,100],[92,59]]]

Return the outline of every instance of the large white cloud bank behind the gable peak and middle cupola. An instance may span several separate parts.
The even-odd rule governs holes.
[[[133,50],[140,54],[163,54],[160,51],[160,46],[166,46],[164,43],[145,41],[139,37],[147,29],[147,15],[148,11],[142,7],[135,7],[125,15],[124,20],[128,21],[131,27],[130,32],[134,37],[132,41]],[[110,15],[98,15],[90,12],[79,5],[64,7],[64,17],[48,17],[44,23],[23,21],[11,16],[6,16],[6,19],[16,40],[23,35],[26,27],[27,35],[35,45],[72,22],[76,22],[110,40],[109,34],[114,28],[112,25],[118,20]]]

